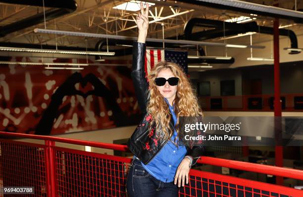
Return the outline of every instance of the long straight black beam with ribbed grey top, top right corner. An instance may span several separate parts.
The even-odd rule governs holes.
[[[232,10],[243,13],[258,14],[274,18],[293,20],[295,23],[303,23],[303,12],[284,9],[270,5],[246,2],[244,0],[177,0],[181,2],[213,7],[222,10]]]

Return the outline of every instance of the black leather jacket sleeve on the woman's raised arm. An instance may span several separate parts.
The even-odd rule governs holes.
[[[131,76],[134,83],[136,96],[140,110],[143,114],[147,111],[147,91],[149,84],[145,78],[145,43],[134,42],[133,44],[133,70]]]

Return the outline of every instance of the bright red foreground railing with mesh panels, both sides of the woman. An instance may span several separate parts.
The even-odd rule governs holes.
[[[123,145],[0,132],[44,145],[0,139],[0,188],[35,187],[36,197],[126,196],[130,158],[57,147],[55,142],[127,151]],[[303,180],[303,171],[202,156],[200,163]],[[1,194],[0,194],[1,196]],[[22,195],[18,195],[22,196]],[[25,196],[25,195],[24,195]],[[303,191],[192,169],[180,197],[303,197]]]

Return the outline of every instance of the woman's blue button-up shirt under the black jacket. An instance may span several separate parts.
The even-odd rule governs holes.
[[[170,113],[174,119],[174,124],[177,123],[177,117],[174,112],[174,107],[171,106],[167,99],[165,101],[168,103]],[[177,132],[174,129],[174,134],[170,138],[174,141],[177,136]],[[171,142],[168,141],[163,148],[152,158],[152,160],[147,164],[142,166],[156,179],[168,183],[174,181],[174,176],[176,174],[177,168],[184,158],[187,150],[182,142],[178,143],[178,148]]]

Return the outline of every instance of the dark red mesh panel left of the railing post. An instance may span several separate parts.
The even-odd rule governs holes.
[[[44,148],[27,143],[0,142],[0,187],[34,187],[35,195],[46,195]],[[3,195],[0,197],[3,197]]]

